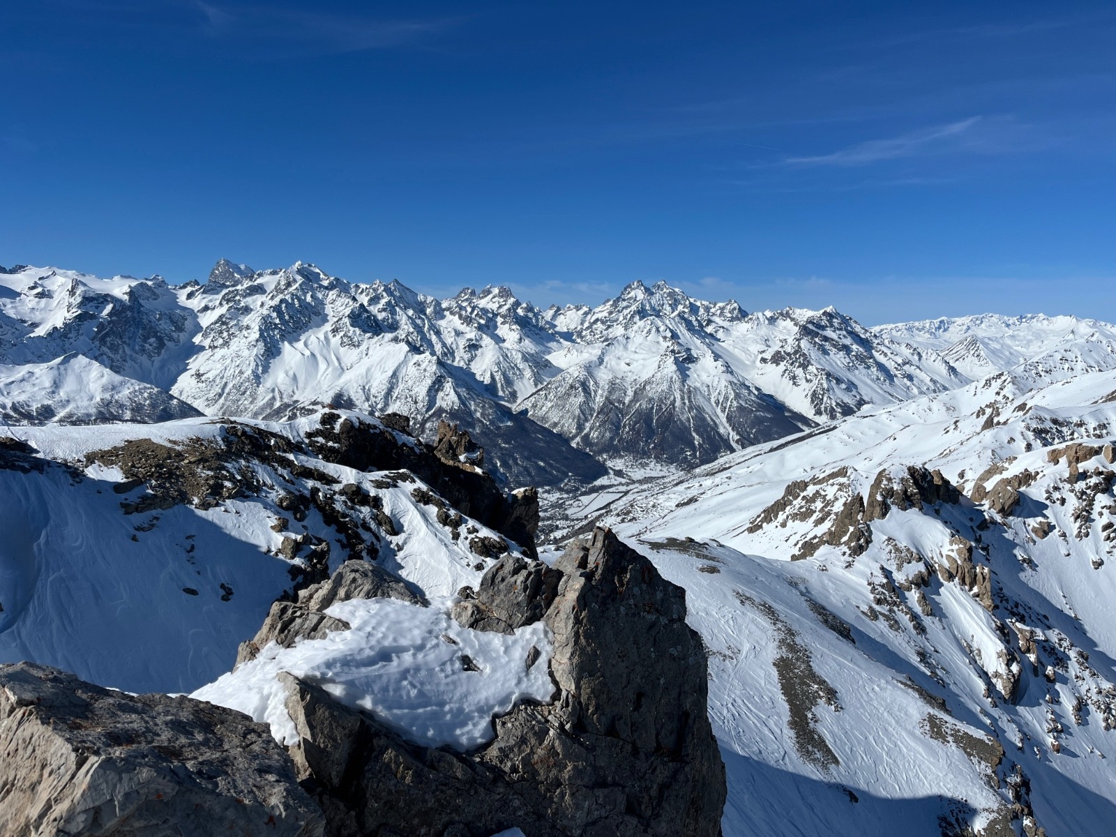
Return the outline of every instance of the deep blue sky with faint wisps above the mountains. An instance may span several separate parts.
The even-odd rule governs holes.
[[[0,263],[1116,320],[1110,2],[4,0]]]

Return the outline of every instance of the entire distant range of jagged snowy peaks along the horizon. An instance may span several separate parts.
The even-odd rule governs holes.
[[[102,367],[104,392],[37,371],[60,358]],[[181,286],[0,273],[0,420],[398,412],[426,436],[442,419],[460,423],[519,483],[588,483],[604,463],[692,468],[1029,360],[1040,377],[1112,368],[1116,328],[994,315],[865,328],[834,308],[749,314],[665,282],[542,310],[508,288],[439,300],[304,262],[257,271],[222,259],[208,282]]]

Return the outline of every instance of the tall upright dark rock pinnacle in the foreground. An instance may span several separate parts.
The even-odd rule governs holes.
[[[685,591],[602,528],[554,568],[557,698],[498,719],[482,760],[565,834],[719,835],[724,764]]]

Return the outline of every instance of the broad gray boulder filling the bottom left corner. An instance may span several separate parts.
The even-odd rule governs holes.
[[[9,837],[317,837],[323,815],[264,724],[0,666],[0,830]]]

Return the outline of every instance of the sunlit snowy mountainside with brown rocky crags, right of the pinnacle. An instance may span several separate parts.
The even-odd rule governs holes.
[[[1114,442],[1116,372],[1017,367],[596,507],[686,588],[725,834],[1110,830]]]

